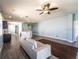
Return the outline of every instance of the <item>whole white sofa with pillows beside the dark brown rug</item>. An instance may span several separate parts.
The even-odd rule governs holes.
[[[51,46],[37,42],[33,39],[20,39],[22,48],[31,59],[47,59],[51,56]]]

